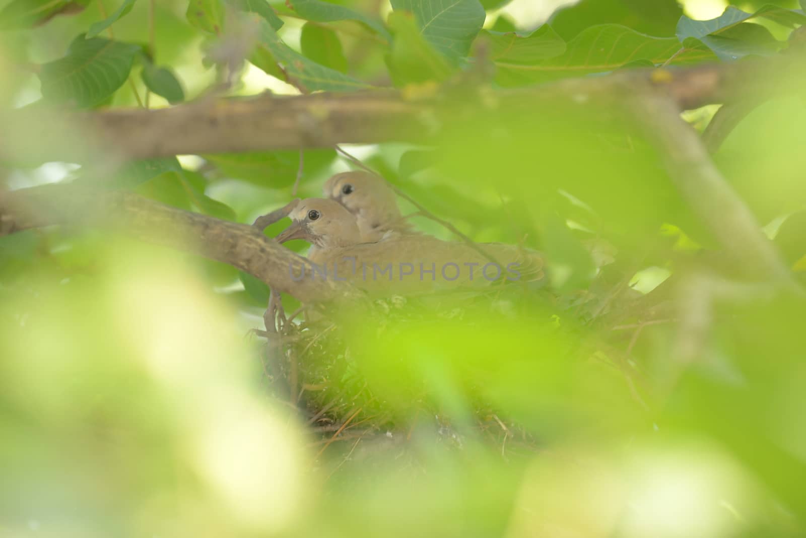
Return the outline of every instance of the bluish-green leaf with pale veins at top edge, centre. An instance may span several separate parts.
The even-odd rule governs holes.
[[[392,6],[413,13],[420,34],[453,60],[467,56],[486,17],[479,0],[392,0]]]

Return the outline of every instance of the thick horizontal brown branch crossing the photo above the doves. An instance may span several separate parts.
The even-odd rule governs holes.
[[[563,104],[585,97],[612,102],[632,97],[631,88],[652,85],[679,109],[730,101],[746,94],[767,95],[803,87],[799,57],[693,68],[660,68],[615,72],[607,77],[565,79],[530,88],[499,90],[501,103],[541,101]],[[247,99],[205,99],[163,110],[106,110],[27,117],[15,111],[0,118],[0,157],[34,147],[48,159],[77,159],[77,129],[89,136],[85,155],[125,152],[131,158],[333,147],[339,143],[427,142],[438,134],[443,103],[440,96],[407,100],[393,90],[314,93],[293,97],[264,95]],[[80,126],[80,127],[77,127]],[[14,130],[12,133],[10,131]],[[24,136],[21,134],[26,131]],[[72,139],[72,140],[71,140]]]

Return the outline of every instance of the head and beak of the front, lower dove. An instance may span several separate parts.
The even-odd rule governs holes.
[[[303,239],[320,249],[355,245],[361,241],[355,216],[338,202],[305,198],[289,214],[293,222],[276,237],[278,242]]]

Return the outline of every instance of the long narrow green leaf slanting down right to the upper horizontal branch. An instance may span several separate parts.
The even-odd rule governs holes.
[[[289,82],[299,85],[307,91],[313,92],[322,89],[331,92],[347,92],[372,87],[302,56],[283,43],[276,31],[263,19],[260,19],[260,41],[274,57],[274,60],[283,66]]]

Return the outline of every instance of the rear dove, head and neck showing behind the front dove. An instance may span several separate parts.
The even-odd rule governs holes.
[[[365,242],[399,234],[415,234],[397,207],[397,196],[386,181],[371,172],[336,174],[326,181],[325,196],[347,208]]]

